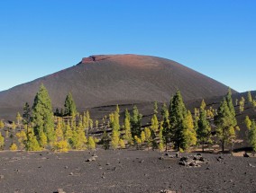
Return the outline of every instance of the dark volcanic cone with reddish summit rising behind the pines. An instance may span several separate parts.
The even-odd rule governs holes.
[[[54,107],[72,92],[78,109],[115,103],[169,101],[179,89],[185,100],[224,95],[227,87],[169,59],[137,55],[83,58],[77,65],[0,92],[0,116],[6,108],[32,103],[43,83]]]

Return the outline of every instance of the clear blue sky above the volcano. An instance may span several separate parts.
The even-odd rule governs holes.
[[[255,0],[1,0],[0,91],[96,54],[167,57],[256,90]]]

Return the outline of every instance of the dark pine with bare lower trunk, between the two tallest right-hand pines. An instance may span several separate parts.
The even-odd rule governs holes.
[[[201,108],[200,117],[197,122],[197,139],[202,145],[202,151],[205,152],[205,144],[210,141],[211,127],[206,117],[206,110]]]

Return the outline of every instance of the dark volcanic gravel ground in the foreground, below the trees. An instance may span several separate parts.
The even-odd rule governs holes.
[[[159,152],[98,150],[70,152],[1,152],[0,192],[255,192],[256,159],[203,154],[207,163],[188,168],[178,158],[160,160]],[[171,153],[174,154],[174,153]],[[223,159],[217,161],[221,156]]]

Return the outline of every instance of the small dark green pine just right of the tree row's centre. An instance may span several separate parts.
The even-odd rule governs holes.
[[[136,105],[133,106],[133,116],[131,118],[132,136],[141,136],[142,114],[140,114]]]

